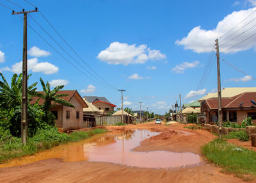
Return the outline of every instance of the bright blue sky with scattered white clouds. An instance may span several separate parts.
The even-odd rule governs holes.
[[[120,107],[123,89],[124,107],[143,102],[141,109],[164,114],[179,95],[183,104],[216,92],[216,38],[221,87],[255,86],[255,0],[12,2],[20,7],[0,1],[15,12],[40,10],[28,16],[36,31],[28,28],[29,84],[38,90],[42,77]],[[23,20],[1,4],[0,72],[10,82],[21,72]]]

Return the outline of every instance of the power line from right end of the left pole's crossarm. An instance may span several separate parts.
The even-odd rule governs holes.
[[[26,0],[24,0],[26,1]],[[33,4],[29,3],[29,1],[26,1],[26,3],[30,4],[31,6],[34,6]],[[63,40],[63,42],[65,42],[65,44],[67,44],[67,46],[76,54],[76,56],[81,60],[83,61],[83,63],[88,67],[90,68],[90,70],[92,70],[92,72],[97,75],[98,77],[100,77],[100,79],[102,79],[102,81],[104,81],[105,83],[104,84],[108,84],[111,88],[115,88],[115,90],[118,90],[118,88],[116,88],[115,86],[113,86],[112,84],[108,83],[108,81],[106,81],[105,79],[103,79],[101,76],[99,76],[99,74],[97,74],[97,72],[95,72],[92,67],[90,67],[90,65],[88,65],[86,63],[86,61],[83,60],[83,58],[71,47],[70,44],[68,44],[68,42],[63,38],[63,36],[60,35],[60,33],[57,31],[56,28],[54,28],[54,26],[52,26],[51,22],[49,22],[49,20],[44,16],[44,14],[41,12],[41,11],[38,11],[40,13],[40,15],[42,15],[42,17],[47,21],[47,23],[51,26],[51,28],[60,36],[61,40]]]

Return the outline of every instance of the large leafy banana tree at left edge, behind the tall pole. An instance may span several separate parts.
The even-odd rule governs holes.
[[[21,122],[21,97],[22,97],[22,74],[13,74],[11,86],[8,84],[3,74],[0,73],[0,120],[1,126],[5,129],[10,129],[13,136],[20,136],[20,122]],[[31,75],[28,76],[28,79]],[[35,111],[34,105],[30,105],[29,101],[31,97],[36,96],[37,83],[33,83],[28,86],[28,122],[29,131],[31,125],[37,125],[38,121],[35,120],[38,113],[32,113]]]

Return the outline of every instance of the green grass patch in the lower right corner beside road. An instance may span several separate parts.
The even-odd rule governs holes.
[[[244,175],[256,175],[256,152],[253,150],[237,147],[223,139],[214,139],[202,147],[202,154],[211,163],[223,168],[223,172],[232,173],[242,179],[245,179]]]

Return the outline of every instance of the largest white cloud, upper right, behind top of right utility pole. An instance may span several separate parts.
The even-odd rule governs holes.
[[[256,3],[256,1],[250,1],[250,3],[254,4]],[[225,33],[230,31],[230,29],[237,26],[237,24],[239,24],[242,20],[248,17],[255,10],[256,8],[250,8],[248,10],[240,10],[238,12],[232,12],[231,14],[224,17],[223,20],[218,22],[218,25],[214,29],[206,30],[206,29],[202,29],[200,26],[197,26],[193,28],[186,37],[182,38],[182,40],[177,40],[175,44],[184,45],[184,49],[186,50],[191,49],[198,53],[211,52],[212,46],[214,45],[214,41],[216,40],[216,38],[220,38]],[[256,46],[256,36],[253,36],[243,44],[239,44],[232,49],[228,49],[233,45],[238,44],[242,40],[245,40],[249,36],[252,36],[255,33],[256,27],[252,28],[252,26],[254,25],[253,22],[251,24],[248,24],[248,22],[250,22],[251,20],[252,20],[252,17],[244,20],[234,30],[230,31],[227,35],[223,36],[223,38],[220,38],[220,52],[225,52],[225,53],[238,52],[238,51],[251,49],[252,47]],[[246,24],[248,25],[246,26]],[[240,31],[238,31],[234,35],[231,35],[232,33],[234,33],[234,31],[237,31],[240,28],[242,28]],[[252,29],[250,29],[249,31],[246,31],[249,28],[252,28]],[[240,33],[243,33],[243,34],[241,34],[241,36],[238,36],[237,38],[234,38]],[[231,36],[227,38],[227,36],[229,35]],[[227,38],[226,40],[224,40],[225,37]],[[232,38],[234,38],[234,40],[231,40]],[[225,42],[227,42],[228,40],[231,40],[231,41],[225,44]],[[226,51],[226,49],[228,50]]]

